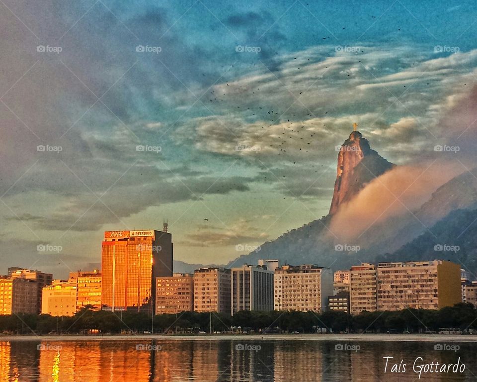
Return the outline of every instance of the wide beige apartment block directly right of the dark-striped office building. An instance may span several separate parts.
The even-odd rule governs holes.
[[[284,265],[273,278],[275,310],[324,310],[333,294],[333,273],[316,265]]]

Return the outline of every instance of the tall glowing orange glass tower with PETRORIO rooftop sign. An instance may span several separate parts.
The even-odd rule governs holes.
[[[156,278],[172,276],[172,235],[164,231],[106,231],[102,242],[101,305],[152,314]]]

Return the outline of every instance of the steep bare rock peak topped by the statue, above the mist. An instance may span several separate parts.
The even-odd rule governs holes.
[[[339,149],[329,214],[336,213],[342,203],[350,201],[374,178],[394,166],[372,150],[368,140],[359,131],[352,131]]]

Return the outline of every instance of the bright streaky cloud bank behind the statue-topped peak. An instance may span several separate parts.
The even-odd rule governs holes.
[[[278,154],[288,162],[312,155],[331,161],[330,148],[357,121],[380,153],[409,163],[441,134],[436,109],[461,94],[460,85],[472,79],[466,67],[477,65],[477,50],[439,58],[421,46],[363,46],[363,53],[331,56],[330,50],[310,48],[283,57],[277,71],[262,65],[216,85],[213,96],[233,111],[220,114],[214,101],[215,115],[183,123],[175,138],[247,159]]]

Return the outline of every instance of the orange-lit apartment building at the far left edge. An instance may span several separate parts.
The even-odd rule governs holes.
[[[0,315],[37,313],[37,284],[33,280],[0,277]]]

